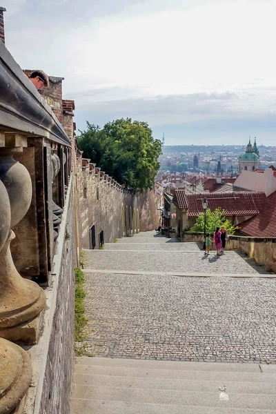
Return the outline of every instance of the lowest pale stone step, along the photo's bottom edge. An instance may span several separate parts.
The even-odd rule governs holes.
[[[228,402],[219,407],[179,406],[176,404],[135,404],[107,400],[72,400],[72,414],[275,414],[276,410],[233,408]]]

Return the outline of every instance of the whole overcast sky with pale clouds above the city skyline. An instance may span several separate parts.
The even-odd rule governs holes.
[[[276,145],[276,0],[0,6],[20,66],[65,77],[77,128],[132,117],[168,145]]]

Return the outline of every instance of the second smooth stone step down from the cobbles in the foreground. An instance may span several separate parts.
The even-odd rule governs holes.
[[[181,362],[179,362],[181,364]],[[189,364],[189,362],[187,363]],[[200,363],[199,363],[200,364]],[[207,363],[206,363],[207,364]],[[220,365],[220,364],[219,364]],[[232,364],[229,364],[231,366]],[[201,380],[201,381],[237,381],[237,382],[266,382],[274,383],[275,373],[239,372],[239,371],[198,371],[198,370],[175,370],[175,369],[147,369],[125,366],[86,366],[75,365],[76,374],[112,375],[119,377],[139,378],[164,378],[175,380]],[[223,384],[224,385],[224,384]]]

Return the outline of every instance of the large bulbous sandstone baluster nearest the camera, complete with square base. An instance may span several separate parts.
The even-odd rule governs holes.
[[[10,253],[10,242],[15,237],[12,227],[26,215],[32,198],[29,172],[13,159],[13,153],[22,151],[22,144],[26,146],[27,143],[24,138],[21,142],[20,136],[14,135],[6,134],[6,146],[0,148],[2,244],[5,240],[0,252],[0,337],[14,342],[35,343],[37,316],[46,305],[46,296],[36,283],[19,275]]]

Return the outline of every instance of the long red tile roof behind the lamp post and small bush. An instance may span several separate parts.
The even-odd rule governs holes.
[[[219,207],[225,210],[228,217],[257,215],[266,200],[264,193],[257,192],[186,194],[184,189],[178,188],[175,191],[174,202],[180,209],[188,209],[190,217],[197,217],[199,213],[203,213],[201,200],[204,197],[208,201],[208,208],[215,210]]]

